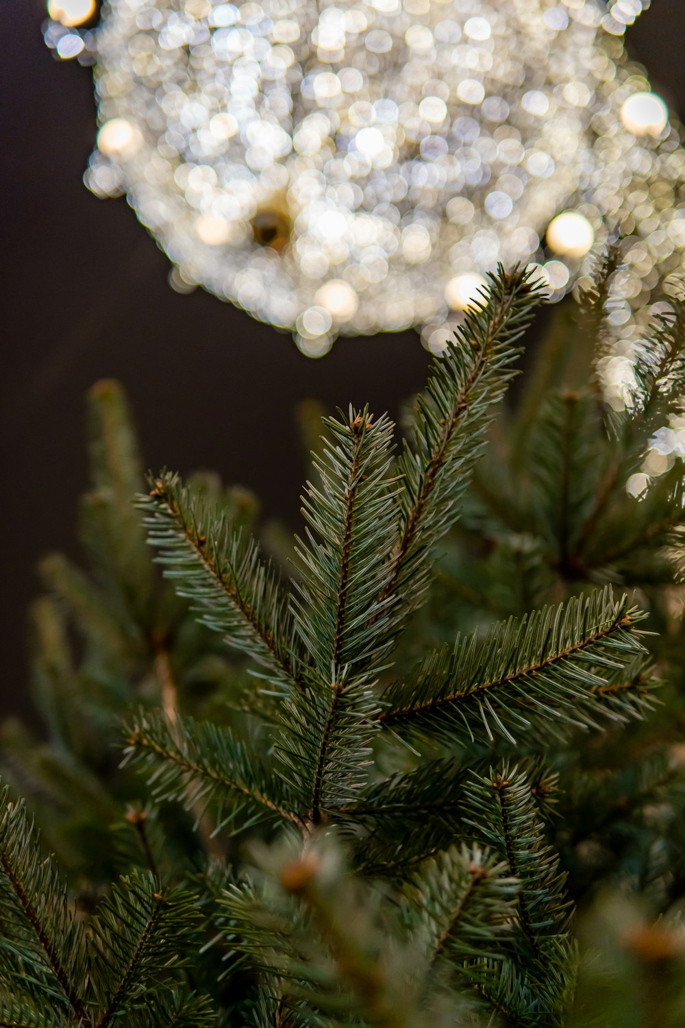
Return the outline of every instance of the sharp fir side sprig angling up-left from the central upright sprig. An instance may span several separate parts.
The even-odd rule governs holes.
[[[199,620],[252,656],[280,688],[302,688],[302,651],[286,597],[255,540],[244,540],[225,512],[198,489],[162,472],[139,498],[148,540],[177,592]]]

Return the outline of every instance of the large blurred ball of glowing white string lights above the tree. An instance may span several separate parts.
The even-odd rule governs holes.
[[[80,32],[89,0],[50,0],[45,38],[94,63],[86,184],[127,194],[180,291],[310,356],[412,325],[440,352],[497,261],[558,300],[615,229],[627,354],[685,253],[679,126],[621,39],[648,5],[108,0]]]

